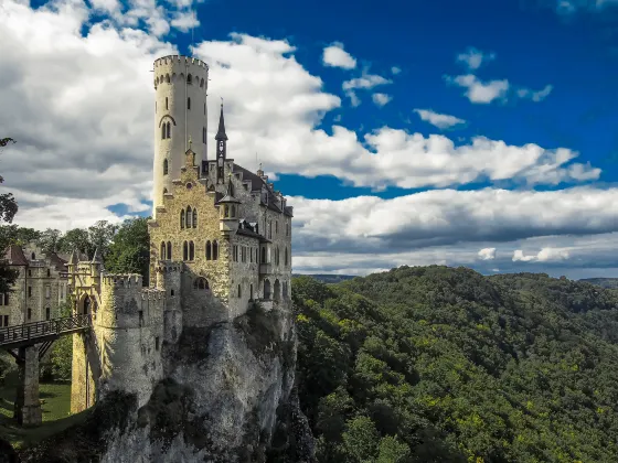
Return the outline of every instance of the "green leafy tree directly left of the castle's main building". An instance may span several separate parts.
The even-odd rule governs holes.
[[[140,273],[143,283],[148,283],[150,265],[150,236],[148,220],[150,217],[135,217],[125,220],[114,236],[105,267],[117,273]]]

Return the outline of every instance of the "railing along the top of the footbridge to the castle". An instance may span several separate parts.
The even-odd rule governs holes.
[[[0,345],[75,332],[90,326],[90,315],[78,314],[62,319],[43,320],[0,329]]]

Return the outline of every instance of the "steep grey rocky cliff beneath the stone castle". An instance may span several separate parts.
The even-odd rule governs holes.
[[[292,314],[256,308],[185,327],[163,344],[164,379],[138,409],[107,395],[79,427],[21,452],[23,462],[313,462],[295,394]]]

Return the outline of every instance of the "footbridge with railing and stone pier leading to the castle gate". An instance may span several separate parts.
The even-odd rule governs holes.
[[[0,329],[0,348],[14,357],[19,368],[14,402],[19,424],[41,424],[39,360],[58,337],[88,331],[90,325],[89,314],[78,314]]]

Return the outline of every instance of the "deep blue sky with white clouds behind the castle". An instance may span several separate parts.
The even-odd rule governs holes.
[[[149,69],[181,53],[210,65],[211,138],[223,97],[230,155],[253,170],[258,152],[295,205],[295,271],[618,277],[616,0],[3,9],[20,224],[150,214]]]

